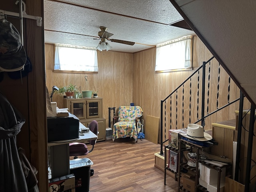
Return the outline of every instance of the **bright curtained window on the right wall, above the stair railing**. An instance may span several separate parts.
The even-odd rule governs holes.
[[[192,39],[186,36],[156,45],[156,72],[192,68]]]

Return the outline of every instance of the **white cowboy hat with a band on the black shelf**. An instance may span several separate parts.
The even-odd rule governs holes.
[[[210,134],[204,132],[204,127],[198,124],[188,124],[187,133],[180,133],[182,136],[198,141],[208,141],[212,139]]]

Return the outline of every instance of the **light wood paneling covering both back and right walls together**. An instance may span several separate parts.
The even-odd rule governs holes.
[[[106,125],[108,125],[108,108],[121,105],[130,105],[133,102],[135,105],[139,105],[143,109],[144,128],[146,129],[146,116],[154,116],[160,118],[160,101],[164,100],[173,90],[175,90],[186,78],[188,78],[203,61],[207,61],[212,57],[212,54],[204,46],[202,41],[194,36],[193,39],[193,70],[179,71],[179,72],[166,72],[156,73],[155,59],[156,48],[151,48],[141,52],[123,53],[113,51],[98,51],[98,74],[74,74],[74,73],[58,73],[53,72],[54,67],[54,46],[52,44],[46,44],[46,85],[51,91],[52,86],[63,86],[69,83],[74,83],[78,87],[81,86],[81,90],[85,90],[84,76],[88,76],[89,88],[99,88],[99,96],[103,98],[103,116],[106,118]],[[219,90],[219,104],[221,107],[227,104],[228,95],[228,74],[220,66],[220,90]],[[208,75],[206,69],[206,76]],[[210,70],[210,90],[209,90],[209,112],[216,110],[216,95],[217,95],[217,79],[218,79],[218,62],[214,59],[211,63]],[[197,75],[192,78],[192,95],[197,94]],[[201,91],[201,79],[200,75],[200,91]],[[207,79],[207,77],[206,77]],[[189,92],[189,84],[185,85],[185,91]],[[179,116],[177,118],[178,128],[180,122],[182,122],[181,104],[182,94],[181,90],[178,91],[180,98],[179,103]],[[207,92],[207,82],[206,82]],[[201,94],[201,92],[200,92]],[[230,82],[230,101],[238,98],[240,92],[234,82]],[[199,96],[201,97],[201,96]],[[172,98],[174,99],[174,98]],[[57,102],[58,107],[63,107],[63,100],[58,94],[54,94],[53,100]],[[175,100],[172,101],[175,103]],[[189,96],[186,94],[184,98],[184,105],[189,104]],[[207,104],[207,103],[206,103]],[[200,102],[199,102],[200,106]],[[248,108],[248,101],[245,100],[244,108]],[[196,97],[192,98],[192,109],[197,107]],[[239,103],[232,104],[228,108],[222,110],[222,112],[215,113],[210,118],[206,119],[206,129],[211,128],[212,122],[218,122],[223,120],[229,120],[235,118],[235,110],[238,110]],[[167,108],[170,108],[170,104],[167,104]],[[175,111],[174,108],[172,108]],[[184,113],[188,114],[189,108],[184,109]],[[200,108],[199,108],[200,111]],[[166,116],[170,115],[166,114]],[[206,114],[206,113],[205,113]],[[175,116],[175,114],[173,114]],[[201,116],[201,115],[200,115]],[[184,116],[184,126],[188,124],[189,116]],[[196,115],[192,114],[191,122],[196,121]],[[176,127],[176,119],[172,122],[172,128]],[[167,124],[170,127],[170,123]],[[167,134],[167,133],[166,133]]]

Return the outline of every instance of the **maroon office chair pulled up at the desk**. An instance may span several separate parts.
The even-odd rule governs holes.
[[[88,128],[90,131],[92,131],[94,134],[98,136],[98,122],[93,120],[90,122]],[[92,148],[88,150],[88,147],[84,143],[70,143],[69,144],[69,156],[74,156],[74,159],[77,159],[77,156],[87,155],[88,153],[92,152],[94,149],[94,145],[96,144],[97,139],[90,140],[89,143],[92,145]]]

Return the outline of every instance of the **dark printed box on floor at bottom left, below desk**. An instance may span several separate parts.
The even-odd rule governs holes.
[[[75,192],[74,174],[49,179],[49,192]]]

